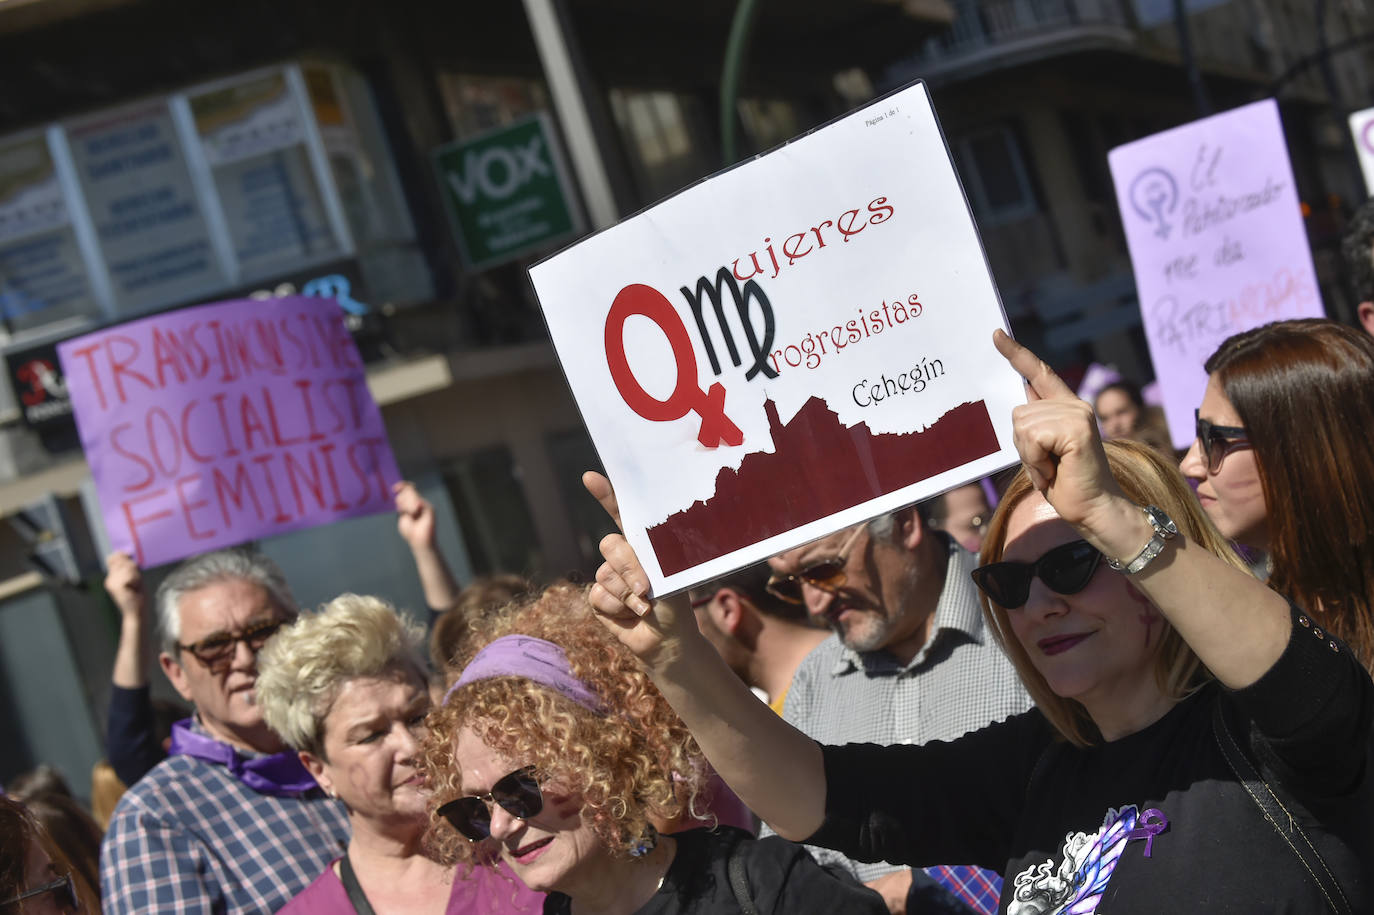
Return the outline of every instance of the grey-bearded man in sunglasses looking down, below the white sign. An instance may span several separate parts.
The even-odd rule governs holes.
[[[783,717],[822,743],[949,741],[1026,710],[1030,699],[982,621],[973,554],[911,506],[769,559],[772,594],[834,633],[801,662]],[[811,849],[878,890],[893,912],[934,908],[923,875]],[[929,868],[976,911],[998,908],[996,875]]]

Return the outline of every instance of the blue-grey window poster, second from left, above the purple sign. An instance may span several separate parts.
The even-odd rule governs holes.
[[[121,313],[228,284],[165,103],[76,124],[67,140]]]

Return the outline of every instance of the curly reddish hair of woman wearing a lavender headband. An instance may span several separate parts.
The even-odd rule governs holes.
[[[429,716],[420,762],[431,789],[426,846],[445,864],[485,863],[436,811],[471,794],[455,758],[462,728],[491,749],[533,765],[540,783],[583,798],[583,822],[613,853],[628,853],[654,823],[676,820],[697,801],[709,768],[701,747],[639,661],[591,613],[587,588],[555,584],[541,595],[474,621],[447,680],[507,635],[552,642],[574,677],[596,694],[594,712],[532,680],[500,676],[463,684]]]

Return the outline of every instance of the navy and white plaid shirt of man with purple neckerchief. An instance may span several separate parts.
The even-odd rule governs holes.
[[[173,756],[114,811],[100,845],[100,904],[106,915],[275,912],[349,834],[344,805],[319,789],[258,794],[223,765]]]

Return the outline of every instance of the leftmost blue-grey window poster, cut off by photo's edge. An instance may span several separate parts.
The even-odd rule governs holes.
[[[96,310],[47,140],[0,144],[0,316],[25,330]]]

